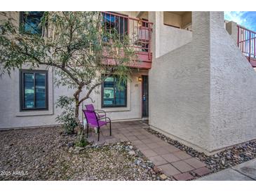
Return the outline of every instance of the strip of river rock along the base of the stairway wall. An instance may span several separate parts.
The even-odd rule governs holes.
[[[227,167],[238,165],[245,161],[251,160],[252,158],[256,158],[256,140],[243,144],[237,144],[229,149],[221,151],[220,153],[216,153],[213,156],[206,156],[206,154],[199,153],[191,147],[181,144],[176,140],[170,139],[169,137],[166,137],[165,135],[157,132],[156,130],[152,130],[151,128],[145,129],[151,134],[154,134],[157,137],[168,142],[169,144],[176,146],[178,149],[185,151],[189,155],[203,161],[204,163],[206,163],[207,167],[213,172],[217,172]]]

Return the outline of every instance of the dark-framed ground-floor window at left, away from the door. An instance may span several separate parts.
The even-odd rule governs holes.
[[[48,109],[48,71],[20,70],[20,111]]]

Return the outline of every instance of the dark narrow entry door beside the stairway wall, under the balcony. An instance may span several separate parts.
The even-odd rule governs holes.
[[[142,76],[142,117],[149,116],[149,76]]]

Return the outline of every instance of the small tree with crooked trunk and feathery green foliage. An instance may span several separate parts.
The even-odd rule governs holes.
[[[134,50],[128,36],[102,27],[100,12],[45,12],[39,27],[41,35],[25,34],[14,25],[13,18],[1,21],[1,75],[21,69],[23,64],[31,69],[53,67],[55,85],[74,90],[72,98],[60,97],[58,106],[67,109],[67,102],[74,102],[72,113],[80,125],[79,106],[106,76],[115,74],[119,81],[127,81],[129,64],[136,59]],[[81,95],[82,91],[86,94]]]

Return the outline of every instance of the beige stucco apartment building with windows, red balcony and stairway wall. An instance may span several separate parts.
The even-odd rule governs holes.
[[[24,22],[22,13],[7,14],[17,25]],[[105,25],[129,35],[139,60],[121,92],[114,91],[116,79],[110,77],[97,88],[99,94],[92,93],[96,109],[113,121],[149,119],[154,130],[205,153],[256,139],[254,32],[224,22],[223,12],[102,15]],[[40,13],[29,16],[36,20]],[[25,78],[38,79],[41,93],[34,104],[22,99]],[[61,112],[55,102],[72,91],[53,81],[53,69],[46,67],[29,71],[24,65],[3,76],[0,129],[55,125]]]

